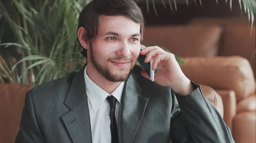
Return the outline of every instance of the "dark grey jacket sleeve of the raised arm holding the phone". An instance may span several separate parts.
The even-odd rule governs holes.
[[[204,97],[201,87],[192,84],[195,90],[189,95],[172,90],[172,143],[235,143],[218,110]]]

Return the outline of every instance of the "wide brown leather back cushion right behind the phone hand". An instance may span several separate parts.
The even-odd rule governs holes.
[[[167,48],[177,56],[216,56],[221,38],[219,26],[148,26],[143,43]]]

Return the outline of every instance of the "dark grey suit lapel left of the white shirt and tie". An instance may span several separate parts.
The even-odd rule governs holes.
[[[74,143],[92,143],[90,114],[84,82],[84,67],[70,85],[64,104],[70,111],[61,118]]]

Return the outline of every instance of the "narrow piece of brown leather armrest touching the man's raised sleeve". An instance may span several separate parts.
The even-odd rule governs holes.
[[[236,93],[233,90],[216,90],[223,101],[224,116],[223,120],[233,131],[233,118],[236,116]]]

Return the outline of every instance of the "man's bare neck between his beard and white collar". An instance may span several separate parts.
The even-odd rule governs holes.
[[[121,84],[121,82],[112,82],[105,79],[98,71],[95,69],[92,63],[87,63],[86,73],[89,78],[105,90],[108,94],[113,93],[113,91]]]

